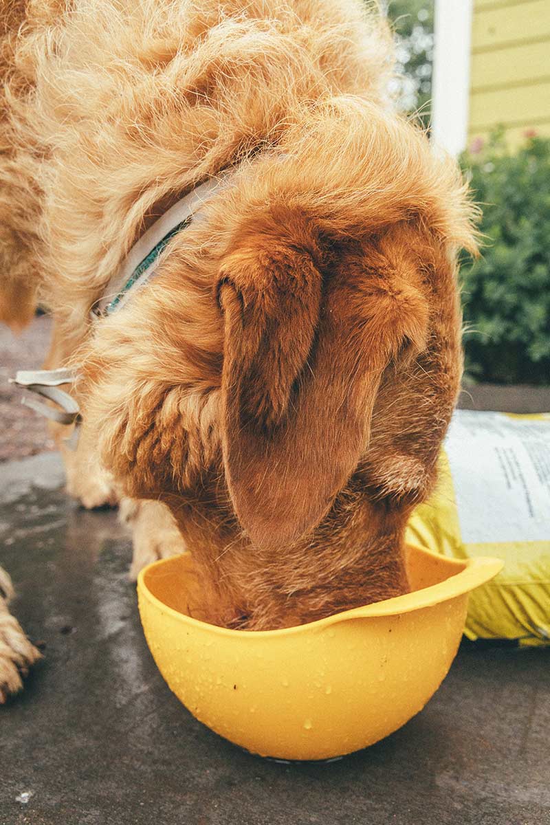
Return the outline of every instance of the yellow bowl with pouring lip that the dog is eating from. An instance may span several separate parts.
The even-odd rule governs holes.
[[[387,736],[434,694],[463,632],[468,593],[502,568],[407,548],[411,592],[283,630],[228,630],[186,615],[190,556],[139,575],[145,638],[168,686],[231,742],[328,759]]]

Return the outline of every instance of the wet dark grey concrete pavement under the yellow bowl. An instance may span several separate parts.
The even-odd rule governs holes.
[[[45,658],[0,709],[1,825],[548,825],[550,650],[463,644],[402,730],[331,764],[261,760],[157,672],[114,512],[55,454],[3,464],[2,564]]]

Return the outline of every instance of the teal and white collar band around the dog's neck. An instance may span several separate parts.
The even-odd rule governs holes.
[[[186,229],[195,214],[216,192],[227,182],[233,174],[233,169],[220,172],[217,177],[195,186],[185,197],[178,200],[167,212],[143,233],[134,243],[128,255],[120,265],[120,269],[110,279],[101,299],[95,304],[92,313],[94,316],[104,317],[120,309],[136,287],[147,283],[158,266],[158,260],[167,243],[182,229]]]

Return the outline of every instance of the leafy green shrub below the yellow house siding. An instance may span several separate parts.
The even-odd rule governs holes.
[[[462,164],[486,236],[461,269],[467,374],[550,384],[550,139],[510,153],[495,134]]]

